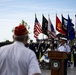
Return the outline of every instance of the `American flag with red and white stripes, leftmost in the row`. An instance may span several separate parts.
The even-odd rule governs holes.
[[[41,25],[37,19],[37,17],[35,16],[35,25],[34,25],[34,37],[38,38],[38,35],[42,32],[42,28]]]

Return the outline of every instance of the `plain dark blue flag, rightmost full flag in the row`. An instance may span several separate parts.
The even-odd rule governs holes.
[[[75,38],[75,31],[73,28],[73,23],[71,22],[71,19],[68,15],[68,23],[67,23],[67,37],[69,40],[73,40]]]

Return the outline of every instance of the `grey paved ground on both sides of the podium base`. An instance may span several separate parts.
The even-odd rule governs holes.
[[[50,70],[41,69],[42,75],[51,75]],[[71,67],[67,68],[67,75],[76,75],[76,67],[71,65]]]

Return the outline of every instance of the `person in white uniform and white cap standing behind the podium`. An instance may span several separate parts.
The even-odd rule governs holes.
[[[70,46],[66,43],[67,38],[61,37],[60,41],[61,41],[60,42],[61,45],[59,46],[58,51],[66,52],[67,55],[69,55],[71,49],[70,49]],[[67,75],[67,61],[68,61],[68,59],[64,60],[64,75]]]

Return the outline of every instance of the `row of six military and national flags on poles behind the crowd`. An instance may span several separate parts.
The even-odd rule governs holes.
[[[62,15],[62,22],[56,15],[56,30],[63,35],[66,35],[68,40],[73,40],[75,38],[74,24],[68,15],[68,19],[64,18]],[[56,31],[48,15],[48,20],[42,15],[42,26],[40,25],[36,14],[35,14],[35,24],[34,24],[34,37],[38,38],[39,34],[43,33],[48,36],[48,38],[56,39]]]

